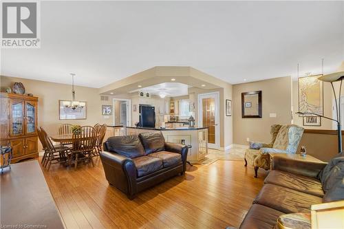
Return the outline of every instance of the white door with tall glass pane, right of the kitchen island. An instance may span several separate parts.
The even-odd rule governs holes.
[[[219,149],[219,92],[198,95],[198,126],[208,127],[208,147]]]

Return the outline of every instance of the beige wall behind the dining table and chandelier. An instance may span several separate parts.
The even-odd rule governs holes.
[[[113,116],[102,116],[101,113],[102,105],[112,105],[112,100],[109,98],[108,101],[101,101],[96,88],[75,87],[76,100],[87,102],[86,120],[58,120],[58,100],[72,99],[71,85],[6,76],[0,76],[0,82],[1,91],[6,91],[6,87],[12,87],[14,82],[21,82],[25,87],[25,94],[31,93],[39,97],[38,124],[48,134],[56,134],[58,127],[63,123],[93,126],[97,122],[113,122]]]

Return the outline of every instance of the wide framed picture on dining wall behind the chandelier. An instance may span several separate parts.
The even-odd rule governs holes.
[[[87,103],[80,101],[80,106],[70,107],[71,100],[58,100],[58,119],[59,120],[76,120],[86,119]]]

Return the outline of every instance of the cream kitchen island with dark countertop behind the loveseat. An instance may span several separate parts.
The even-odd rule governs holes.
[[[178,128],[147,128],[126,127],[127,135],[143,132],[161,131],[166,142],[180,143],[191,146],[188,151],[188,161],[199,162],[208,153],[208,127],[178,127]]]

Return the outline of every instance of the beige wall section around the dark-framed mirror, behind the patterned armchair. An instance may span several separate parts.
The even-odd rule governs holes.
[[[262,118],[241,118],[241,93],[261,91]],[[270,142],[272,124],[292,121],[292,80],[290,76],[233,85],[233,142],[246,145],[250,141]],[[276,113],[276,118],[270,118]]]

